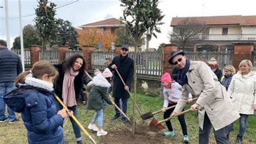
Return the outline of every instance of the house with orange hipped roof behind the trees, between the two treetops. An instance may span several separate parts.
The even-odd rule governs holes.
[[[114,35],[114,31],[122,26],[120,20],[116,18],[109,18],[105,20],[101,20],[94,23],[84,24],[81,26],[78,26],[78,28],[82,29],[98,29],[102,33],[105,31],[110,31]]]

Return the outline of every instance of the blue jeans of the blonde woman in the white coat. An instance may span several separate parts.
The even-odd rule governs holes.
[[[240,116],[241,117],[239,118],[239,131],[238,131],[237,136],[239,138],[242,138],[242,136],[245,134],[245,130],[246,130],[249,115],[240,113]],[[228,134],[231,133],[231,131],[233,129],[233,125],[234,125],[234,122],[231,123],[230,125],[228,125]]]

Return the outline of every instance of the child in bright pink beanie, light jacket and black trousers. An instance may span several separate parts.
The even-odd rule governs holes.
[[[173,112],[174,108],[166,110],[167,107],[174,106],[177,104],[180,94],[181,94],[181,85],[179,85],[175,80],[171,79],[169,73],[164,73],[161,77],[161,83],[164,86],[164,106],[162,108],[162,112],[164,112],[164,119],[170,117],[171,113]],[[192,101],[192,95],[189,95],[188,101]],[[184,109],[183,109],[184,111]],[[184,115],[178,116],[180,126],[184,136],[184,142],[189,142],[188,135],[187,135],[187,126]],[[175,136],[175,132],[173,131],[171,121],[165,122],[169,131],[165,132],[164,136]]]

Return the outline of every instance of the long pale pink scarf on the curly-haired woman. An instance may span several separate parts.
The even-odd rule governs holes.
[[[77,105],[74,79],[78,73],[79,71],[73,72],[73,69],[70,68],[70,70],[66,71],[64,75],[62,86],[62,98],[64,104],[69,107]]]

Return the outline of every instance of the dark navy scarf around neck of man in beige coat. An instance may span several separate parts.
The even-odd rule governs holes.
[[[179,70],[178,73],[178,83],[183,86],[184,84],[187,84],[187,75],[186,73],[188,72],[188,70],[190,69],[190,60],[186,59],[186,65],[185,68],[183,68],[182,70]]]

